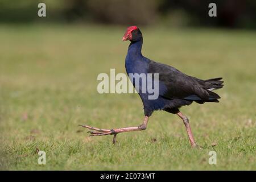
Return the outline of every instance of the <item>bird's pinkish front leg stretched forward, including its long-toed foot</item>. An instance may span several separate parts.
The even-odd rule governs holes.
[[[89,131],[89,133],[91,134],[90,136],[114,135],[113,143],[115,143],[118,133],[146,130],[147,122],[148,122],[148,116],[145,116],[142,125],[139,125],[136,127],[122,127],[119,129],[108,130],[108,129],[98,129],[97,127],[92,127],[92,126],[88,126],[88,125],[81,125],[81,126],[86,127],[91,130],[91,131]],[[92,130],[94,130],[94,131],[92,131]]]

